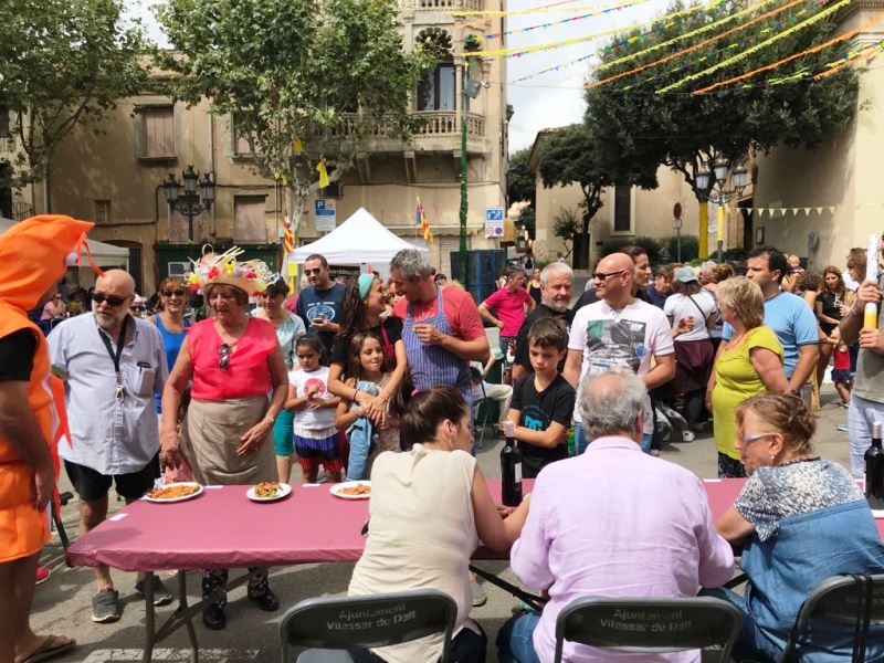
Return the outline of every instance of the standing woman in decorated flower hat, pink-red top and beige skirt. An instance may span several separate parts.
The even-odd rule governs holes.
[[[182,456],[176,413],[188,381],[193,380],[183,452],[203,485],[276,480],[269,438],[288,393],[288,376],[275,327],[248,315],[245,308],[249,297],[264,290],[267,267],[261,261],[238,262],[240,253],[234,248],[204,255],[188,276],[188,284],[202,292],[214,315],[190,327],[162,392],[160,457],[177,467]],[[249,598],[262,610],[276,610],[280,601],[267,583],[267,570],[252,570]],[[223,587],[227,578],[227,569],[203,571],[203,597]],[[207,628],[224,628],[224,604],[221,600],[203,609]]]

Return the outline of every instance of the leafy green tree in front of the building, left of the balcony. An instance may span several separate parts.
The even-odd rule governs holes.
[[[232,117],[254,170],[293,192],[296,218],[320,164],[335,181],[361,137],[415,127],[410,93],[434,59],[403,51],[394,0],[169,0],[157,14],[170,94]]]

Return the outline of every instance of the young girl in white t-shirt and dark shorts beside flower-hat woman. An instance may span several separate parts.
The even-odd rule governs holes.
[[[295,453],[305,483],[316,483],[319,465],[332,481],[341,481],[335,408],[340,399],[328,393],[328,367],[322,366],[323,341],[302,336],[295,341],[301,368],[288,373],[286,410],[295,411]]]

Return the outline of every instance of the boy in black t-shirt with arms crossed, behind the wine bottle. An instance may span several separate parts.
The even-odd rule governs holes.
[[[573,413],[575,390],[558,371],[568,350],[565,324],[543,318],[528,330],[533,373],[513,388],[509,420],[522,450],[522,474],[534,478],[543,467],[568,457],[568,429]]]

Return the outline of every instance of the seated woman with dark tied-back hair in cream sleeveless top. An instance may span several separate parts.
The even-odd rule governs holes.
[[[368,541],[348,593],[366,596],[438,589],[454,599],[452,661],[484,661],[486,638],[470,618],[470,557],[480,538],[505,551],[518,538],[529,498],[497,507],[470,454],[470,410],[456,389],[433,387],[412,397],[401,420],[402,453],[385,452],[371,470]],[[435,663],[442,636],[372,650],[375,661]]]

